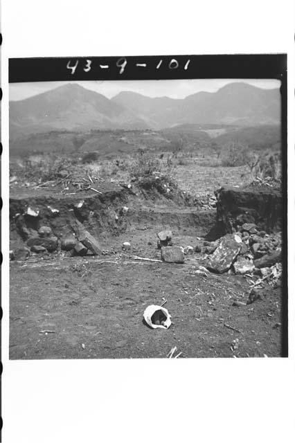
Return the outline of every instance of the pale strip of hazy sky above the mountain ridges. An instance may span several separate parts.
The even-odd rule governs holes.
[[[116,96],[121,91],[134,91],[149,97],[168,96],[171,98],[185,98],[199,91],[215,92],[225,84],[231,82],[245,82],[263,89],[280,87],[279,80],[114,80],[114,81],[86,81],[78,83],[82,87],[91,89],[107,98]],[[34,83],[10,83],[10,100],[23,100],[36,94],[60,87],[70,82],[34,82]]]

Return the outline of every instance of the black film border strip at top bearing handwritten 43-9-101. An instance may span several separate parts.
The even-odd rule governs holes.
[[[286,54],[11,58],[9,82],[282,78]]]

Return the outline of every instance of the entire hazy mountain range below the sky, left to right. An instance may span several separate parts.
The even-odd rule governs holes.
[[[163,129],[181,124],[269,125],[280,123],[279,89],[243,82],[184,99],[150,98],[123,91],[108,99],[78,84],[65,84],[10,102],[10,138],[56,130]]]

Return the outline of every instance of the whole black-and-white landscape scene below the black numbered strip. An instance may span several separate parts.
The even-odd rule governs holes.
[[[10,83],[10,359],[286,356],[280,88]]]

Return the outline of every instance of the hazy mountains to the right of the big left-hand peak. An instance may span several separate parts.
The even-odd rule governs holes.
[[[217,125],[268,125],[280,123],[279,89],[260,89],[246,83],[230,83],[215,93],[198,92],[173,100],[148,98],[121,92],[112,99],[157,127],[211,123]]]

